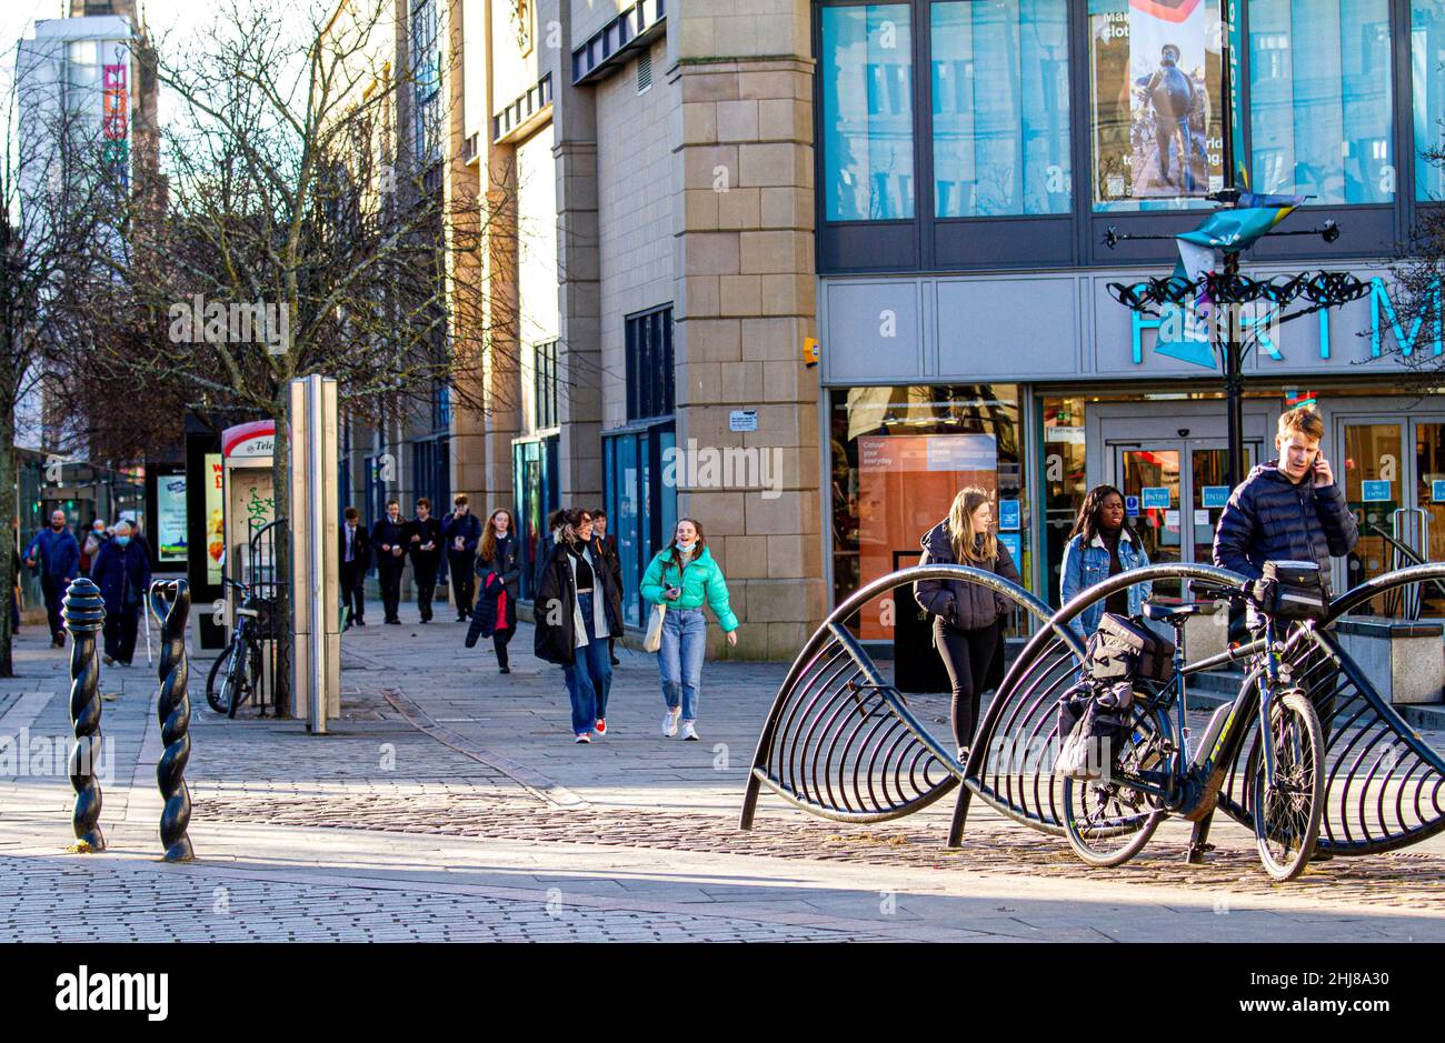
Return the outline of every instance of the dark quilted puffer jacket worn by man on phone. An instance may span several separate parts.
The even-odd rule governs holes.
[[[1214,533],[1214,563],[1259,579],[1264,562],[1319,562],[1329,582],[1329,559],[1354,550],[1360,527],[1340,484],[1298,485],[1272,459],[1250,471],[1230,495]]]

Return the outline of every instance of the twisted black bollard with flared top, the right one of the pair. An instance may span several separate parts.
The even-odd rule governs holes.
[[[172,600],[173,598],[173,600]],[[168,862],[195,858],[186,826],[191,825],[191,790],[185,784],[185,766],[191,760],[191,696],[186,693],[189,663],[185,653],[185,623],[191,614],[191,589],[185,579],[158,579],[150,584],[150,614],[160,626],[160,741],[165,751],[156,761],[156,786],[165,797],[160,812],[160,845]]]

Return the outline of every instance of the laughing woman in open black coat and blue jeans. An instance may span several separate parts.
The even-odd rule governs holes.
[[[611,588],[611,569],[592,553],[592,516],[568,511],[533,602],[535,650],[539,659],[562,667],[578,743],[607,734],[613,686],[607,639],[623,630]]]

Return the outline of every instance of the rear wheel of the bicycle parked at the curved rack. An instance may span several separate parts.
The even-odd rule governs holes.
[[[1129,784],[1140,771],[1162,773],[1168,724],[1153,712],[1134,722],[1108,779],[1064,783],[1064,832],[1074,854],[1088,865],[1123,865],[1137,855],[1165,818],[1149,793]]]

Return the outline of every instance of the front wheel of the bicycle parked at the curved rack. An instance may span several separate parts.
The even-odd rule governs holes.
[[[1270,706],[1274,782],[1260,763],[1254,770],[1250,803],[1260,861],[1274,880],[1303,873],[1319,839],[1325,809],[1325,735],[1309,698],[1290,691]],[[1256,750],[1261,750],[1256,738]]]

